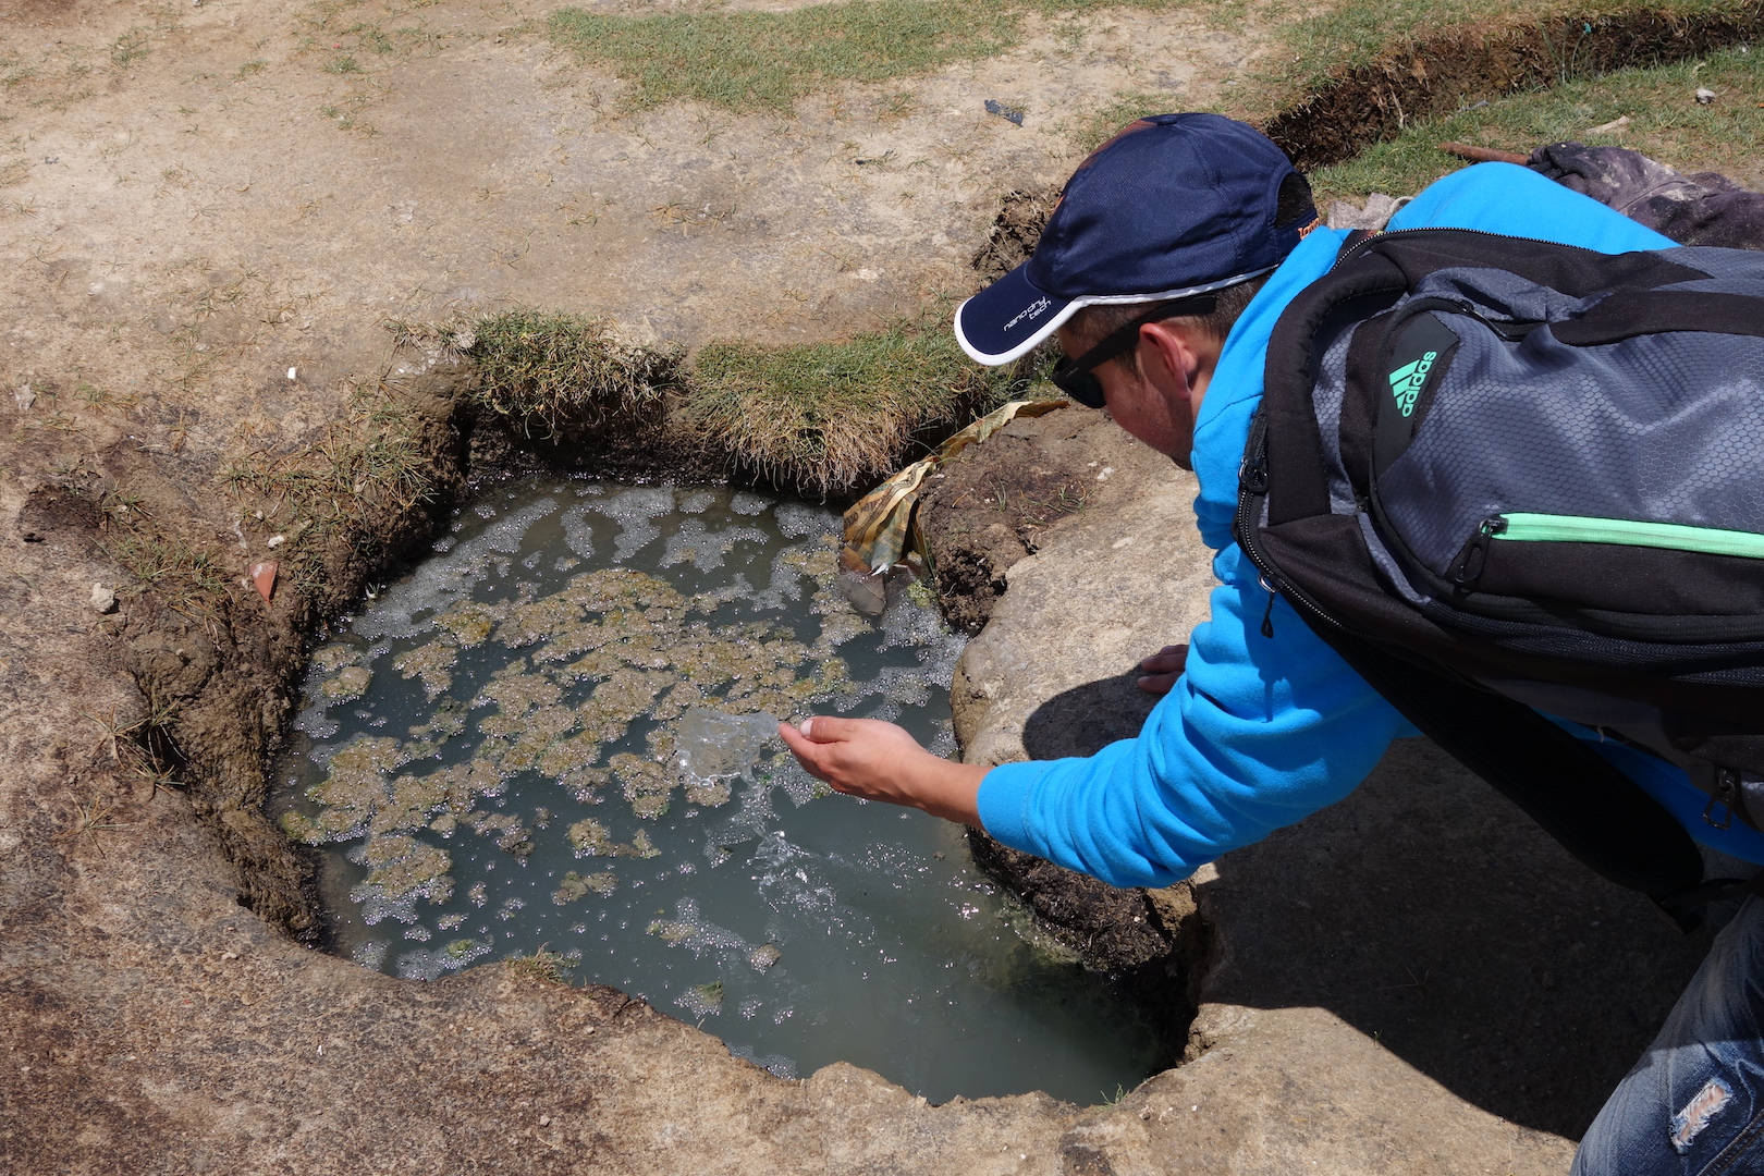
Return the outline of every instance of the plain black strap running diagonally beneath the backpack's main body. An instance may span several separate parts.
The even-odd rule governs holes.
[[[1683,931],[1700,924],[1702,903],[1730,897],[1704,887],[1702,855],[1665,806],[1531,707],[1325,622],[1311,628],[1424,735]]]

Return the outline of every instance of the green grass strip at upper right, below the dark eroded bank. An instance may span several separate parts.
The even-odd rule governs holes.
[[[1699,106],[1697,86],[1720,97]],[[1619,116],[1630,118],[1623,130],[1591,134]],[[1764,51],[1729,49],[1709,55],[1700,67],[1681,62],[1626,69],[1501,99],[1408,127],[1357,159],[1319,169],[1311,182],[1319,201],[1360,201],[1369,192],[1408,196],[1464,166],[1439,150],[1452,139],[1506,152],[1579,139],[1632,146],[1688,171],[1722,171],[1738,162],[1757,173],[1764,169]]]

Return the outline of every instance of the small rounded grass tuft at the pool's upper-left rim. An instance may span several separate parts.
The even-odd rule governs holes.
[[[621,342],[610,324],[557,310],[482,319],[462,351],[478,363],[476,400],[556,435],[564,425],[656,423],[681,354]]]

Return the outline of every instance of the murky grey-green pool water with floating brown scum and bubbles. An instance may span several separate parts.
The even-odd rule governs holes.
[[[751,492],[527,480],[332,633],[280,765],[337,950],[434,979],[547,949],[781,1076],[854,1061],[933,1102],[1097,1102],[1155,1031],[972,866],[960,830],[829,793],[774,718],[953,749],[961,642],[834,585],[838,515]]]

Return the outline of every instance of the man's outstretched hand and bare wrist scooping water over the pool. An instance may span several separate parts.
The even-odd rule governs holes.
[[[942,760],[893,723],[817,714],[803,719],[801,730],[780,723],[778,735],[790,744],[796,762],[834,792],[905,804],[963,825],[981,823],[981,778],[990,769]]]

